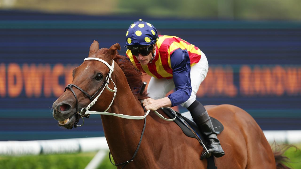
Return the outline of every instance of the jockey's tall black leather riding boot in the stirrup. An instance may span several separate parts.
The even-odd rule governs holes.
[[[210,155],[214,155],[215,157],[222,157],[225,155],[225,152],[219,143],[219,139],[216,136],[216,132],[214,131],[212,122],[204,106],[195,100],[187,109],[190,111],[191,116],[194,122],[200,128],[200,131],[206,137],[206,148],[209,154],[206,150],[204,150],[202,152],[201,159],[208,158]]]

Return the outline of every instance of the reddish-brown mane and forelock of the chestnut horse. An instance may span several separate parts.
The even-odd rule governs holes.
[[[98,56],[99,54],[105,54],[108,50],[108,48],[101,48],[97,51],[96,56]],[[138,100],[148,98],[146,91],[144,91],[142,94],[139,94],[142,86],[143,76],[141,72],[138,69],[136,69],[134,65],[125,56],[119,55],[118,52],[114,56],[113,60],[117,63],[117,65],[126,75],[126,80],[128,81],[128,84],[135,98]]]

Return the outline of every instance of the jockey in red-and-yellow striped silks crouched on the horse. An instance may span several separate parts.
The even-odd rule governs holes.
[[[147,88],[150,98],[143,101],[145,109],[181,104],[206,136],[209,153],[215,157],[225,155],[206,109],[196,100],[196,93],[208,72],[205,54],[176,36],[158,36],[157,29],[141,19],[132,23],[126,32],[126,48],[126,56],[132,64],[152,76]],[[174,88],[175,92],[165,97]],[[208,156],[203,151],[201,159]]]

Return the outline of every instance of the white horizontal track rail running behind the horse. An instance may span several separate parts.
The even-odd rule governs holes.
[[[269,142],[300,143],[301,130],[263,131]],[[0,141],[0,155],[39,155],[71,152],[108,151],[105,137],[59,140]]]

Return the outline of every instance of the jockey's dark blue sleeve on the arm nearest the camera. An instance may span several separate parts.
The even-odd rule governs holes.
[[[168,95],[172,106],[187,101],[191,95],[190,59],[187,50],[175,50],[170,56],[175,92]]]

